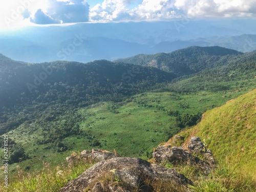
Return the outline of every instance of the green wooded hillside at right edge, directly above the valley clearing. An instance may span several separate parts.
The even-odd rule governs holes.
[[[190,93],[255,87],[255,53],[233,57],[224,56],[215,63],[215,66],[174,81],[169,84],[169,91]]]

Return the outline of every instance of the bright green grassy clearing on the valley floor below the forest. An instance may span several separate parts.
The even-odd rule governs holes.
[[[56,166],[61,162],[65,162],[65,158],[72,152],[81,152],[84,149],[91,148],[102,148],[109,151],[113,151],[115,148],[122,156],[147,159],[147,152],[151,154],[153,147],[167,139],[166,132],[172,131],[174,117],[168,116],[166,111],[157,110],[155,107],[144,107],[137,102],[146,100],[147,104],[152,104],[153,106],[158,104],[164,106],[165,110],[178,110],[181,114],[197,114],[198,112],[212,109],[211,105],[213,104],[220,106],[246,92],[230,92],[227,94],[223,92],[198,92],[192,95],[179,95],[181,100],[175,100],[177,95],[168,92],[140,94],[126,100],[122,106],[119,106],[118,111],[120,113],[118,114],[108,110],[108,105],[111,104],[109,102],[93,106],[91,109],[81,108],[80,113],[88,116],[86,117],[87,120],[80,122],[82,129],[91,133],[92,136],[100,141],[102,146],[90,146],[87,138],[72,136],[63,140],[69,150],[57,153],[52,148],[52,143],[45,145],[37,145],[35,143],[38,137],[42,137],[40,130],[34,132],[33,136],[29,134],[36,124],[22,125],[18,129],[9,132],[8,135],[9,138],[21,143],[25,151],[32,157],[32,159],[19,163],[22,168],[30,166],[30,171],[40,169],[43,166],[43,161],[51,162],[53,166]],[[223,98],[223,95],[227,97]],[[153,102],[155,100],[160,102]],[[188,105],[188,108],[183,109],[184,105]],[[105,119],[102,119],[102,117]],[[50,150],[47,148],[48,146]],[[0,153],[3,154],[3,149],[1,149]],[[11,170],[15,170],[15,167],[16,164],[10,166]]]

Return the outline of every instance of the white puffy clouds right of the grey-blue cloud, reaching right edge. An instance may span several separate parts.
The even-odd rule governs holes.
[[[136,0],[135,0],[136,1]],[[104,0],[90,10],[90,20],[166,20],[188,17],[255,16],[256,0],[143,0],[128,9],[132,0]]]

